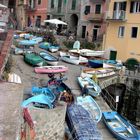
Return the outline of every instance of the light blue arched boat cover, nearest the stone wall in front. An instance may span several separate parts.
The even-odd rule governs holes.
[[[39,94],[36,96],[33,96],[31,98],[28,98],[27,100],[24,100],[22,102],[22,107],[26,108],[28,107],[30,104],[43,104],[43,105],[47,105],[49,108],[53,108],[53,104],[50,101],[50,99],[48,98],[48,96],[44,95],[44,94]]]

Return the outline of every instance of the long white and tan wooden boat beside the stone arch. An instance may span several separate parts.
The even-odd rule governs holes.
[[[93,75],[96,75],[97,78],[104,78],[104,77],[108,77],[108,76],[112,76],[115,74],[115,71],[113,69],[105,69],[105,68],[85,68],[82,70],[81,75],[83,75],[83,77],[92,77]],[[85,75],[85,76],[84,76]]]

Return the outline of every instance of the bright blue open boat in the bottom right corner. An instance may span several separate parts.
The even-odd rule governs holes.
[[[109,131],[119,140],[139,140],[137,130],[116,111],[103,112],[103,120]]]

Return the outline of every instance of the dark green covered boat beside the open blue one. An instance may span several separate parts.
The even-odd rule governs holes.
[[[46,62],[37,53],[25,53],[24,61],[32,66],[44,66]]]

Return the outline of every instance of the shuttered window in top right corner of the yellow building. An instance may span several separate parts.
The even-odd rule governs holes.
[[[139,1],[131,1],[130,13],[140,13],[140,2]]]

